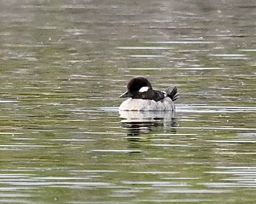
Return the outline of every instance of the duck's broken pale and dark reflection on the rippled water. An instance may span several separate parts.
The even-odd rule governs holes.
[[[128,133],[130,139],[136,140],[139,134],[157,131],[162,127],[163,131],[176,132],[176,118],[174,111],[119,111],[122,127]]]

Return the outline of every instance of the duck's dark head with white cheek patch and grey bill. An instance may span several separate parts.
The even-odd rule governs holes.
[[[127,92],[119,96],[120,98],[132,97],[133,99],[138,99],[143,93],[152,90],[152,86],[146,78],[136,77],[129,81],[127,89]]]

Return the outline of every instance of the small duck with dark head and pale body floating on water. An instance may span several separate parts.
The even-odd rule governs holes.
[[[178,98],[176,86],[170,86],[165,92],[153,90],[150,81],[136,77],[129,81],[127,91],[120,98],[130,97],[119,107],[119,111],[175,111],[173,101]]]

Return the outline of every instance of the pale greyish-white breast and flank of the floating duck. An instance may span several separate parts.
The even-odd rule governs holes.
[[[166,97],[161,101],[145,99],[127,99],[119,107],[119,111],[166,111],[175,110],[173,101]]]

